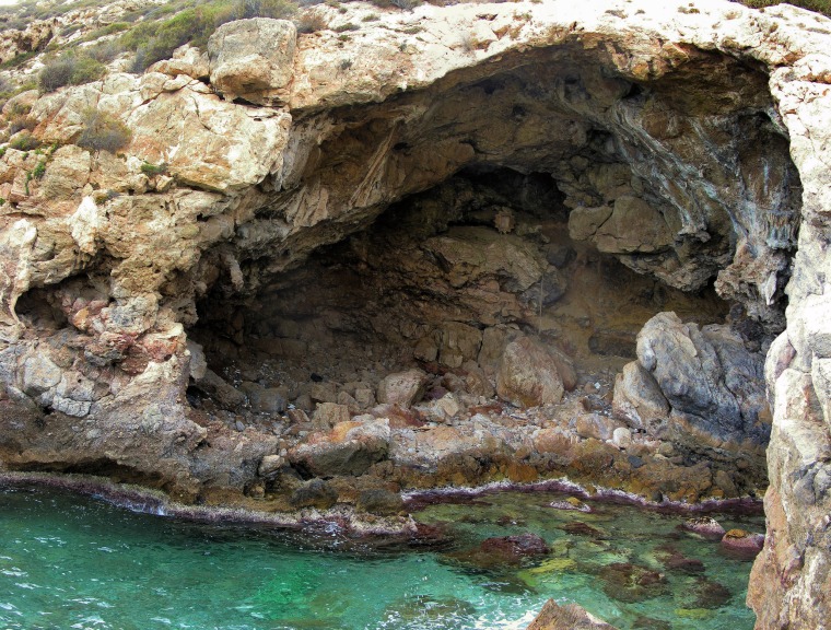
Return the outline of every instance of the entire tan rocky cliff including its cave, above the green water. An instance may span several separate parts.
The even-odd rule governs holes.
[[[763,487],[770,436],[750,602],[821,628],[831,22],[586,4],[320,5],[8,103],[42,148],[0,160],[2,466],[695,501]]]

